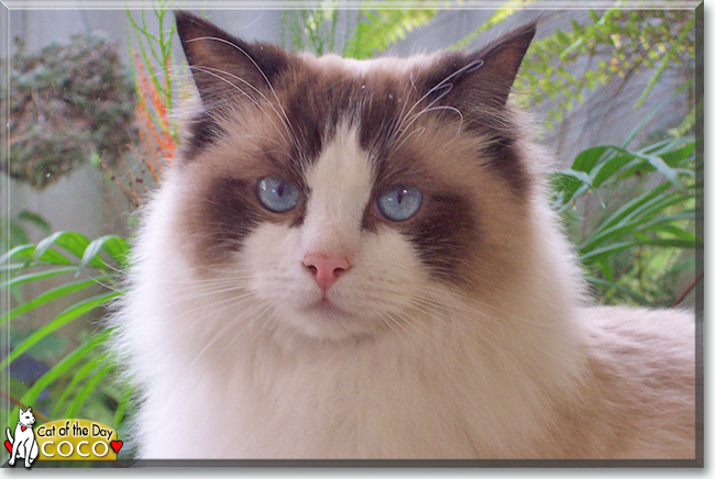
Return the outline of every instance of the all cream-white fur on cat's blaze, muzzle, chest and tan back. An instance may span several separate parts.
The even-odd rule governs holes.
[[[339,136],[327,155],[353,158],[369,185],[354,137]],[[330,161],[315,176],[339,179]],[[288,267],[310,234],[338,224],[360,239],[358,220],[318,204],[305,231],[260,226],[208,280],[179,225],[187,175],[172,170],[144,212],[114,318],[143,393],[142,458],[694,457],[692,314],[588,307],[540,192],[508,286],[475,300],[437,283],[384,232],[362,238],[369,267],[345,286],[370,301],[342,299],[364,321],[336,327],[277,304],[310,294]]]

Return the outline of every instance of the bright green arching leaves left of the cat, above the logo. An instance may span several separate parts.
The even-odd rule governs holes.
[[[0,361],[0,371],[3,375],[10,374],[10,365],[21,355],[41,353],[38,346],[43,341],[52,338],[57,330],[105,308],[119,297],[119,277],[127,267],[128,252],[127,241],[119,236],[103,236],[90,242],[79,233],[58,232],[36,245],[22,245],[6,253],[0,258],[0,268],[8,278],[2,283],[3,289],[51,278],[64,278],[64,281],[11,308],[0,316],[0,324],[7,326],[22,315],[53,302],[69,301],[70,305],[37,330],[26,335],[21,334],[23,337],[20,341],[13,342],[14,334],[11,335],[13,347]],[[87,293],[92,296],[86,298]],[[18,332],[16,328],[11,331]],[[111,381],[101,382],[114,370],[114,365],[106,361],[107,353],[102,350],[102,343],[108,335],[109,331],[89,334],[79,346],[64,354],[34,385],[24,385],[12,377],[6,377],[6,380],[13,380],[12,391],[6,394],[16,405],[37,404],[37,410],[43,409],[43,405],[51,409],[53,419],[76,415],[94,396],[100,403],[112,404],[111,409],[106,408],[103,411],[95,406],[97,420],[102,419],[107,424],[120,425],[121,413],[114,413],[113,410],[125,410],[129,398],[112,388]],[[55,382],[63,387],[51,388]],[[98,388],[100,382],[101,388]],[[52,391],[50,398],[44,402],[38,401],[40,394],[46,388]]]

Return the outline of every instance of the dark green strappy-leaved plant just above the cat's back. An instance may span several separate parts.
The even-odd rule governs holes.
[[[654,185],[653,175],[660,177]],[[649,185],[642,186],[644,178]],[[628,268],[618,266],[623,255],[628,256],[628,265],[638,264],[641,258],[648,258],[647,264],[654,261],[653,248],[666,248],[672,254],[703,247],[703,238],[694,233],[694,222],[702,220],[695,197],[702,194],[703,183],[696,180],[692,137],[669,138],[636,151],[625,145],[587,148],[570,168],[556,174],[552,181],[554,202],[561,211],[576,211],[579,199],[590,194],[598,199],[603,213],[600,220],[582,234],[572,229],[572,236],[581,261],[590,271],[588,281],[602,300],[626,296],[638,304],[661,304],[663,298],[658,292],[646,293],[645,287],[652,285],[654,278],[630,281]],[[637,188],[639,185],[641,188]],[[610,197],[608,192],[614,188],[641,192],[606,204],[605,198]],[[662,305],[668,304],[666,298]]]

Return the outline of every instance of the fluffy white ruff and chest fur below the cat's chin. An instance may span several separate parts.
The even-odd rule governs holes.
[[[548,304],[538,278],[519,288],[542,297],[538,312],[530,301],[480,305],[436,288],[378,334],[315,337],[252,294],[235,299],[232,288],[220,294],[193,279],[162,224],[173,192],[154,202],[161,227],[140,245],[155,260],[139,274],[163,279],[142,283],[129,304],[138,311],[128,339],[148,392],[138,421],[140,437],[151,431],[146,457],[530,456],[553,399],[574,393],[583,358],[561,324],[569,309]],[[554,264],[534,269],[552,280],[563,274]],[[178,420],[206,413],[226,427]],[[176,434],[207,437],[183,449]]]

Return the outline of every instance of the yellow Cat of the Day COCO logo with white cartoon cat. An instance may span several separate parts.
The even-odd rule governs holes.
[[[10,466],[14,466],[18,458],[24,459],[26,468],[32,467],[34,460],[117,460],[124,445],[114,430],[89,420],[51,421],[33,431],[35,417],[30,410],[20,410],[14,436],[8,428],[6,447],[10,453]]]

